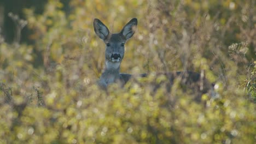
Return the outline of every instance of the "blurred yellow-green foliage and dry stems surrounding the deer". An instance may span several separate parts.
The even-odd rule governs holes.
[[[49,0],[42,14],[24,9],[16,25],[27,24],[34,44],[0,37],[0,143],[255,142],[255,9],[253,0]],[[107,92],[95,85],[104,65],[96,17],[111,32],[138,18],[121,71],[152,75]],[[219,98],[195,102],[196,92],[178,82],[168,92],[154,75],[181,70],[204,70]]]

